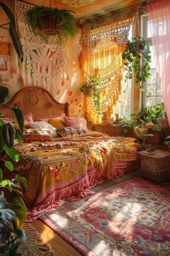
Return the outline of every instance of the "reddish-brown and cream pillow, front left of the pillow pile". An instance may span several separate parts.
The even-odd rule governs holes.
[[[51,141],[50,129],[27,129],[23,132],[22,140],[48,140]]]

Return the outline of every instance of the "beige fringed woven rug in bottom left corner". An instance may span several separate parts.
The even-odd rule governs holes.
[[[50,256],[54,255],[54,251],[51,249],[50,244],[42,243],[40,234],[30,225],[30,223],[24,224],[24,231],[27,232],[29,239],[26,242],[22,242],[19,245],[18,252],[23,256]]]

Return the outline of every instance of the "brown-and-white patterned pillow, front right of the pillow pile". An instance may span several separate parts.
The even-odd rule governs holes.
[[[89,135],[86,129],[76,128],[76,127],[63,127],[57,130],[58,135],[61,137],[73,138],[73,137],[83,137]]]

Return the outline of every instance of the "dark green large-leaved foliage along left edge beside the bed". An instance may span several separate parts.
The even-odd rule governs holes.
[[[0,104],[3,104],[9,90],[0,86]],[[9,108],[9,107],[8,107]],[[26,221],[27,208],[22,200],[22,185],[27,187],[24,177],[16,175],[14,179],[6,179],[6,169],[14,170],[13,161],[19,161],[19,154],[14,147],[14,139],[21,143],[23,130],[22,111],[14,106],[10,108],[17,119],[20,132],[11,123],[6,124],[3,117],[0,118],[0,252],[1,256],[20,255],[17,253],[19,244],[27,239],[27,234],[21,229]],[[8,157],[6,157],[8,155]],[[10,192],[10,195],[8,195]],[[12,193],[12,194],[11,194]],[[17,195],[13,197],[14,195]],[[5,197],[9,197],[6,200]],[[9,202],[7,202],[9,201]]]

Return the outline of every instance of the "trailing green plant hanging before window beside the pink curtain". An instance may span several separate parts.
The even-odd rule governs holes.
[[[137,35],[128,40],[122,59],[125,59],[125,82],[135,78],[135,83],[143,88],[142,83],[150,77],[150,43]]]

